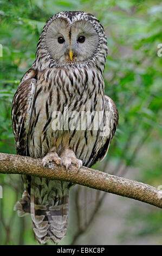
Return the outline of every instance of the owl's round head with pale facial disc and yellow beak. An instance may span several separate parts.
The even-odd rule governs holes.
[[[106,60],[107,39],[92,14],[63,11],[46,22],[37,45],[37,58],[46,56],[50,65],[75,65]],[[104,61],[105,62],[105,61]]]

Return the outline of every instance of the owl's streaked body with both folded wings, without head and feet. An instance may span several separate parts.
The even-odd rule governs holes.
[[[68,115],[78,114],[75,124],[72,117],[61,119],[62,114],[67,115],[65,110]],[[90,128],[85,115],[81,115],[83,112],[92,119]],[[58,113],[60,119],[55,129],[53,124]],[[94,113],[100,113],[97,130]],[[62,124],[63,120],[66,123]],[[70,147],[83,165],[90,167],[107,153],[118,125],[118,110],[105,96],[98,70],[74,66],[43,71],[30,69],[14,96],[12,122],[18,154],[43,157],[52,147],[57,148],[58,154],[63,147]],[[65,129],[69,124],[71,129]]]

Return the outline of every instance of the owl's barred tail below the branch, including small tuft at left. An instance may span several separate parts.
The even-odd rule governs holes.
[[[27,194],[24,191],[24,196],[14,209],[19,216],[30,212],[39,243],[46,243],[48,240],[59,243],[66,235],[68,225],[68,182],[31,177],[30,198],[29,195],[26,197]]]

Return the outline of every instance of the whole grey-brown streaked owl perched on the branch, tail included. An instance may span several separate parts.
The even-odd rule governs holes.
[[[102,78],[107,40],[99,20],[82,11],[50,17],[38,40],[36,58],[12,101],[18,155],[91,167],[107,154],[118,110],[105,95]],[[31,215],[39,243],[66,235],[70,182],[22,175],[18,216]]]

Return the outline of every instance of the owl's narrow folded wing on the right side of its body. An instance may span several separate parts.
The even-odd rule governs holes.
[[[98,161],[102,161],[107,155],[109,145],[112,142],[114,133],[118,126],[119,114],[114,101],[105,95],[105,110],[106,110],[106,133],[104,137],[98,138],[94,145],[92,155],[89,159],[87,167],[93,166]],[[98,150],[96,150],[98,149]]]

